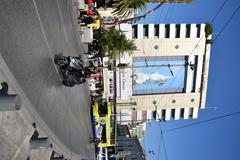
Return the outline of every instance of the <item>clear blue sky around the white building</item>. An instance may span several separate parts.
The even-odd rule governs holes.
[[[210,22],[224,1],[193,0],[191,4],[164,4],[138,23]],[[160,127],[164,131],[240,111],[240,9],[225,30],[218,34],[239,5],[240,0],[227,0],[213,22],[214,36],[218,35],[218,39],[211,48],[206,109],[200,110],[199,118],[195,120],[148,123],[142,142],[148,160],[240,159],[240,115],[167,132],[163,138],[160,134]],[[154,155],[147,153],[149,150],[153,150]]]

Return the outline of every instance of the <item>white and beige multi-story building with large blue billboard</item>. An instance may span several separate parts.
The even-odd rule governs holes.
[[[211,47],[205,26],[118,26],[137,48],[116,62],[128,65],[116,71],[119,122],[144,122],[152,119],[153,111],[162,120],[198,117],[206,103]]]

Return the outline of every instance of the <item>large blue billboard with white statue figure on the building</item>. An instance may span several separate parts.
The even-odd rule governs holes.
[[[185,56],[134,57],[133,95],[183,92],[185,62]]]

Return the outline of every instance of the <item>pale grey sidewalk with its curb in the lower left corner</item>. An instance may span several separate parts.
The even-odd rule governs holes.
[[[20,95],[22,108],[18,111],[0,112],[0,159],[26,160],[30,157],[31,153],[34,153],[32,154],[34,157],[31,156],[31,159],[37,159],[37,157],[43,157],[43,152],[50,152],[47,149],[45,151],[40,150],[39,152],[30,151],[29,142],[34,132],[34,128],[32,127],[33,122],[37,124],[39,136],[49,137],[56,152],[63,154],[66,158],[72,157],[72,160],[79,159],[78,155],[71,155],[71,152],[58,140],[34,110],[0,53],[0,83],[2,82],[8,83],[9,94]],[[46,156],[49,156],[49,154]]]

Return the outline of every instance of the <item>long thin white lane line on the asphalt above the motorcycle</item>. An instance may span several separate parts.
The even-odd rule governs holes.
[[[50,55],[51,60],[53,61],[54,68],[55,68],[56,72],[59,74],[58,68],[57,68],[57,66],[54,63],[53,53],[52,53],[51,48],[49,46],[48,39],[47,39],[47,36],[46,36],[46,32],[44,30],[44,27],[43,27],[43,24],[42,24],[42,20],[41,20],[41,17],[40,17],[38,8],[37,8],[37,3],[36,3],[35,0],[33,0],[33,5],[34,5],[34,9],[35,9],[35,11],[37,13],[37,18],[38,18],[38,21],[39,21],[39,24],[40,24],[40,27],[41,27],[41,31],[42,31],[42,34],[43,34],[44,41],[45,41],[45,43],[47,45],[47,48],[48,48],[48,53]]]

